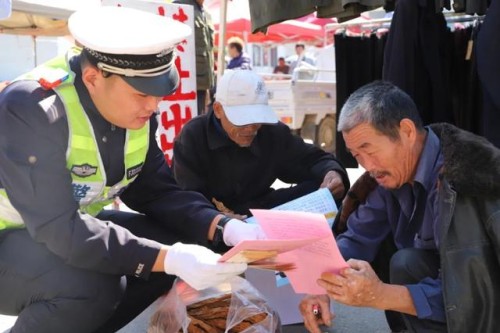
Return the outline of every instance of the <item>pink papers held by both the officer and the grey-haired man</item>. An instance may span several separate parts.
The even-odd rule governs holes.
[[[258,263],[276,256],[276,264],[293,264],[287,276],[296,293],[324,294],[316,283],[325,272],[348,267],[323,214],[252,210],[268,239],[247,240],[228,251],[221,261]]]

